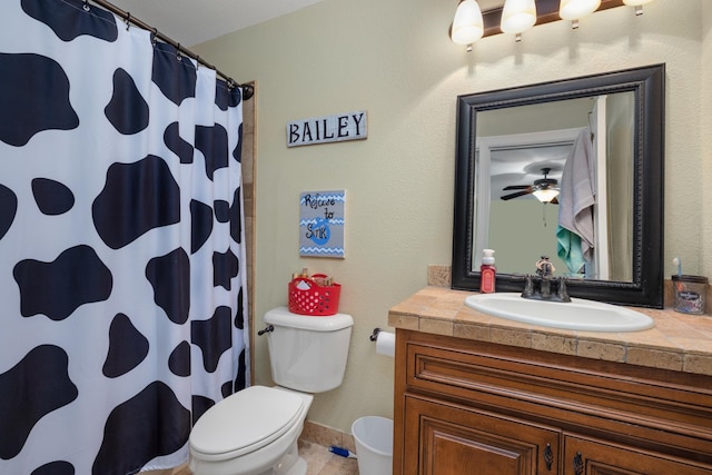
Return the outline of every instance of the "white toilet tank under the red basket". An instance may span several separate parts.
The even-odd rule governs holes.
[[[265,314],[271,377],[276,384],[305,393],[340,386],[346,370],[354,319],[336,314],[313,317],[278,307]]]

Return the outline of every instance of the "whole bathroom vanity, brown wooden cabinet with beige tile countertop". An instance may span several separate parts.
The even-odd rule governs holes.
[[[427,287],[396,328],[394,474],[712,474],[712,318],[545,328]]]

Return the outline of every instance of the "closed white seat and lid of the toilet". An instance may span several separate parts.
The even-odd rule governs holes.
[[[249,454],[297,424],[303,406],[298,394],[250,386],[226,397],[198,419],[190,433],[190,448],[212,461]]]

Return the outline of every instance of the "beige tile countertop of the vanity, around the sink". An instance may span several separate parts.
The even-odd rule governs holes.
[[[395,328],[712,376],[712,316],[632,307],[655,326],[630,333],[578,331],[512,321],[465,305],[472,291],[426,287],[388,311]]]

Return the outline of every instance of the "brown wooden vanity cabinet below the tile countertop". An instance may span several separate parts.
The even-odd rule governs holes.
[[[712,377],[396,330],[394,475],[712,474]]]

